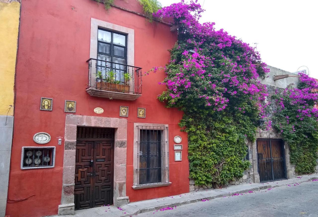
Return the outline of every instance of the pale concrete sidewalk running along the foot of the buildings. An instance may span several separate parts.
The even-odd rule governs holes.
[[[174,195],[170,197],[156,198],[146,201],[138,201],[126,204],[122,207],[95,207],[91,209],[75,211],[75,217],[98,217],[98,216],[132,216],[139,213],[159,210],[165,207],[175,207],[183,204],[195,203],[201,200],[212,200],[219,197],[231,196],[233,194],[243,194],[249,191],[258,191],[266,188],[280,187],[283,185],[291,185],[318,179],[318,174],[302,175],[301,178],[293,178],[288,180],[273,181],[266,183],[251,183],[229,186],[222,189],[206,189],[203,191],[191,192],[186,194]],[[63,215],[64,216],[64,215]],[[71,217],[72,215],[65,215]]]

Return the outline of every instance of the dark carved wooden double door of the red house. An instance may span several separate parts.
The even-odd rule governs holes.
[[[114,140],[76,142],[75,209],[113,204]]]

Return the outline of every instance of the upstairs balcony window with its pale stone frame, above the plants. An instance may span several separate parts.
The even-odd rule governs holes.
[[[124,81],[124,73],[129,72],[131,77],[135,76],[132,69],[129,71],[129,67],[125,68],[126,66],[124,66],[134,66],[135,64],[135,31],[114,23],[91,18],[89,56],[94,59],[91,61],[93,72],[90,82],[92,84],[96,81],[96,78],[98,79],[94,69],[95,66],[98,68],[96,71],[101,71],[103,78],[107,77],[107,72],[113,71],[118,83]],[[96,59],[101,61],[95,61]],[[105,66],[106,64],[107,66]],[[132,81],[133,79],[131,79],[129,91],[133,91],[134,84]]]

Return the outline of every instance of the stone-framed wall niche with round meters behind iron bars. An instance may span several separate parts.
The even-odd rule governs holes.
[[[22,147],[21,169],[53,168],[55,147]]]

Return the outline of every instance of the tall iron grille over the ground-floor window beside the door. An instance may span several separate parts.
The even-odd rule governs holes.
[[[138,127],[138,185],[169,183],[168,127]]]

